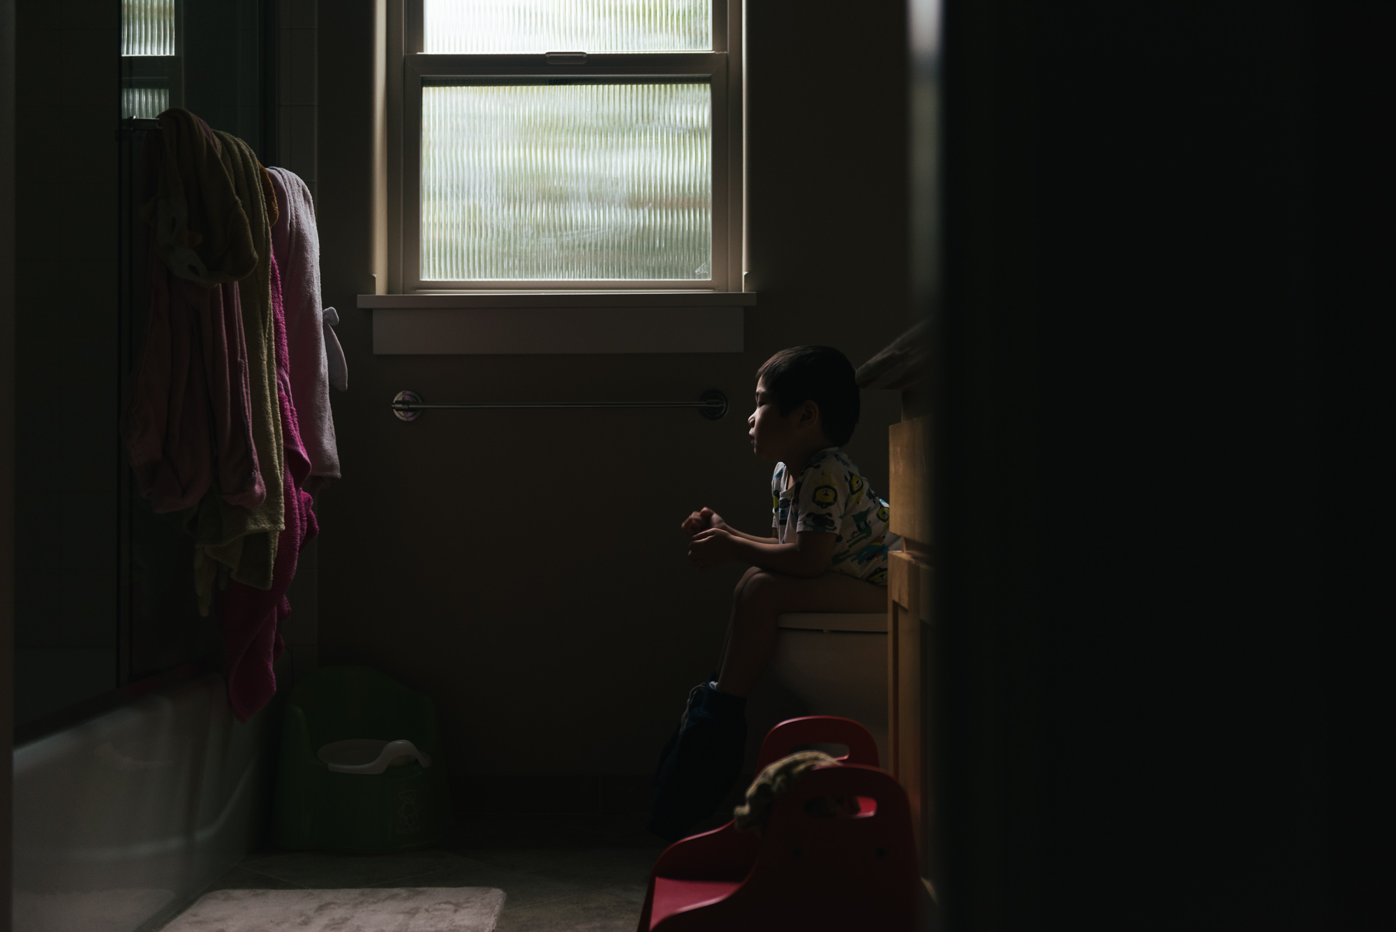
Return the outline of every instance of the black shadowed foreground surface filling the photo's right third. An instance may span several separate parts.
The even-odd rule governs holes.
[[[944,29],[945,928],[1379,928],[1328,911],[1389,875],[1390,4]]]

